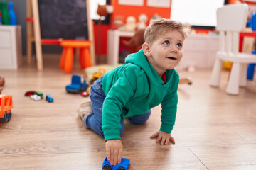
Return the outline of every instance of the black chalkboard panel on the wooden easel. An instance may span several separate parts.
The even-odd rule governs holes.
[[[41,38],[88,40],[86,1],[38,0]]]

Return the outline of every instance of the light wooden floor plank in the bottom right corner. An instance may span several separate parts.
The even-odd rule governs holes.
[[[208,169],[253,169],[256,145],[215,145],[189,147]]]

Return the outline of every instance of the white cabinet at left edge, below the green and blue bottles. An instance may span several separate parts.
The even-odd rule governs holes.
[[[21,66],[21,45],[21,26],[0,26],[0,69]]]

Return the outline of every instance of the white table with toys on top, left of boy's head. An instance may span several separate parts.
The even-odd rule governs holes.
[[[107,30],[107,64],[119,63],[120,37],[132,37],[134,32]]]

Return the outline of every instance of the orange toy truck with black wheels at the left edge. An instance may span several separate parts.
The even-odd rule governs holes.
[[[11,95],[0,95],[0,121],[2,123],[11,120],[11,108],[13,108]]]

